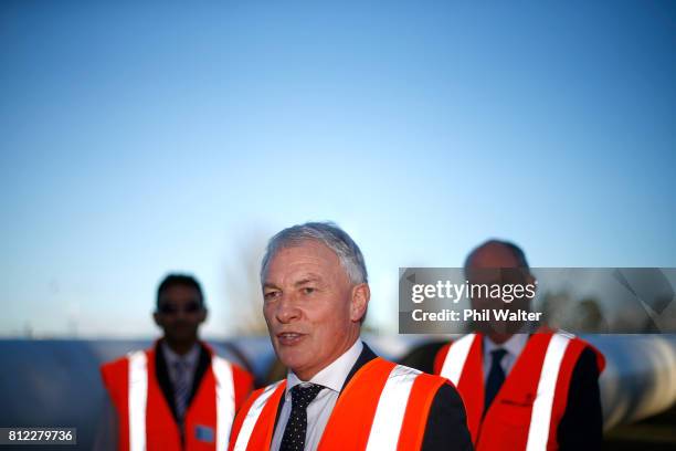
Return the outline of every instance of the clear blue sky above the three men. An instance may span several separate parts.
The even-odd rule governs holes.
[[[306,220],[381,331],[399,266],[490,237],[676,266],[676,3],[318,3],[0,4],[0,335],[150,336],[173,270],[228,335]]]

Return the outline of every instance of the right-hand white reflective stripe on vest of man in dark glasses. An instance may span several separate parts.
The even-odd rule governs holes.
[[[219,356],[211,359],[216,392],[216,451],[228,449],[228,438],[234,420],[234,382],[232,366]]]

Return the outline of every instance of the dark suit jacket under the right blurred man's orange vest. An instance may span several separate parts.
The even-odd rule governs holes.
[[[403,365],[433,374],[434,357],[445,344],[447,342],[423,345],[404,357]],[[559,422],[557,437],[561,451],[601,449],[603,412],[599,390],[599,368],[596,355],[590,348],[582,352],[573,369],[566,412]]]

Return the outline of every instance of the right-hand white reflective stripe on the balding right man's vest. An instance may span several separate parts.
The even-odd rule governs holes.
[[[547,354],[545,354],[545,363],[538,381],[538,391],[532,403],[526,451],[547,449],[557,379],[569,343],[570,338],[561,334],[553,334],[547,346]]]

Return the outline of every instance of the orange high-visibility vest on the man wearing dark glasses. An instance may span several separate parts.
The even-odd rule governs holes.
[[[223,451],[237,409],[251,392],[253,378],[244,369],[211,354],[183,418],[183,442],[171,408],[157,380],[156,347],[129,353],[101,367],[104,385],[117,411],[120,451]]]

